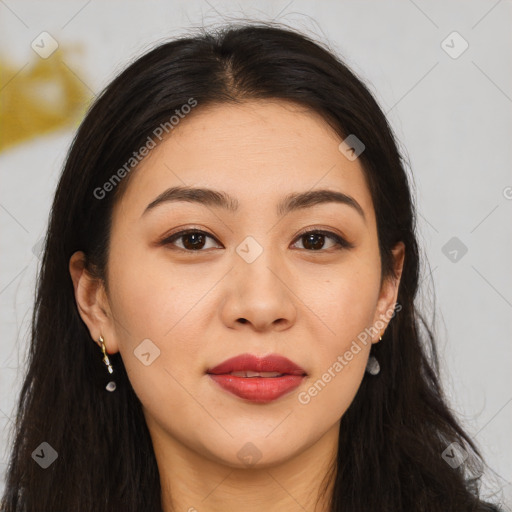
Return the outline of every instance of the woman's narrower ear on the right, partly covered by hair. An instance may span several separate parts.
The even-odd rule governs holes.
[[[393,269],[394,276],[389,276],[383,280],[379,299],[377,301],[377,308],[375,310],[375,317],[373,319],[373,326],[375,326],[377,333],[372,340],[372,343],[377,343],[379,337],[384,334],[389,322],[391,321],[393,312],[395,310],[396,299],[398,297],[398,287],[402,277],[402,270],[404,267],[405,245],[403,242],[398,242],[393,249]]]

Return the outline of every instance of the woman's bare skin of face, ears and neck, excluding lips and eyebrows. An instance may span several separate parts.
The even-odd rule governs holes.
[[[309,403],[298,395],[387,314],[385,330],[404,258],[399,243],[397,279],[381,286],[370,191],[359,159],[348,160],[340,142],[318,114],[288,102],[198,106],[132,171],[114,208],[109,292],[84,269],[83,253],[70,259],[92,339],[102,335],[109,354],[121,352],[143,404],[166,512],[326,509],[332,487],[324,494],[320,484],[337,453],[342,415],[362,379],[378,378],[365,367],[379,332]],[[223,190],[239,201],[239,213],[178,202],[142,216],[179,185]],[[366,220],[333,202],[277,216],[285,194],[319,188],[352,196]],[[314,250],[298,236],[309,227],[355,247],[336,250],[325,237]],[[158,245],[187,228],[213,236],[203,252],[178,250],[191,246],[190,237],[175,240],[175,250]],[[252,263],[235,250],[247,236],[263,249]],[[160,356],[145,366],[134,350],[147,338]],[[271,403],[243,400],[205,373],[242,353],[281,354],[308,376]],[[237,455],[249,442],[260,456],[253,464]]]

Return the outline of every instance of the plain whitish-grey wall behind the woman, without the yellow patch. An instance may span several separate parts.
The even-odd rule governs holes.
[[[510,503],[511,12],[510,1],[495,0],[2,0],[0,48],[15,68],[30,69],[39,59],[30,44],[42,31],[60,45],[82,44],[66,64],[92,97],[134,57],[191,27],[274,19],[329,43],[370,85],[410,159],[426,258],[421,296],[431,310],[435,294],[445,389],[495,470],[488,485]],[[456,59],[441,47],[453,31],[469,44]],[[16,77],[0,76],[0,101],[4,86],[15,87]],[[39,263],[32,248],[72,135],[59,131],[0,154],[0,493]],[[456,263],[442,252],[452,237],[468,248]]]

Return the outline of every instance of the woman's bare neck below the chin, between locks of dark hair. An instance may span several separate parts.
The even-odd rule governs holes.
[[[152,439],[160,473],[163,512],[325,512],[336,460],[339,422],[314,445],[265,467],[232,467],[207,459],[170,438]]]

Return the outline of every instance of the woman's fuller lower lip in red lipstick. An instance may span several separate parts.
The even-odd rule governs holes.
[[[283,377],[236,377],[235,375],[208,374],[219,386],[251,402],[267,403],[300,386],[303,375]]]

